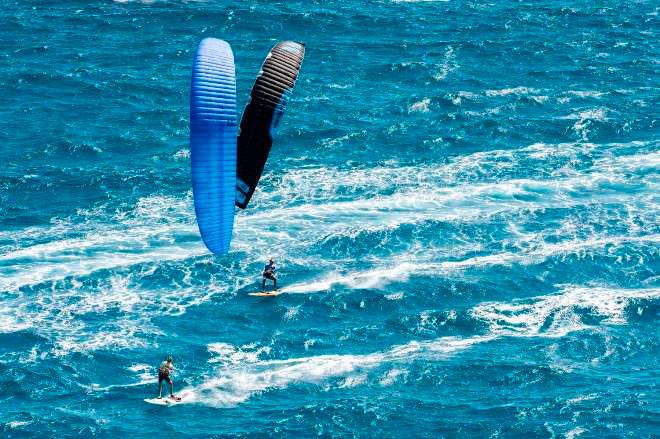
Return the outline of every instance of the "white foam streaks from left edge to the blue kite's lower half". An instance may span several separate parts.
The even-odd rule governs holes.
[[[205,254],[201,242],[186,240],[184,244],[176,244],[186,236],[196,236],[190,209],[189,197],[154,196],[141,199],[131,212],[120,212],[110,221],[106,218],[102,223],[69,224],[68,229],[57,224],[53,232],[66,236],[80,230],[85,236],[53,240],[0,255],[0,263],[3,263],[0,265],[0,290],[17,290],[26,285],[86,276],[105,269]],[[90,215],[96,217],[97,214],[91,212]],[[42,233],[33,229],[25,232],[28,235]]]

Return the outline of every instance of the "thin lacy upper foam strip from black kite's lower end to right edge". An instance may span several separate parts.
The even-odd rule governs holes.
[[[354,200],[406,189],[454,186],[465,183],[502,182],[522,176],[520,170],[532,173],[535,179],[576,175],[576,167],[586,162],[584,171],[606,171],[626,156],[603,157],[628,148],[650,148],[639,156],[657,162],[658,142],[630,142],[612,144],[593,143],[536,143],[516,150],[490,150],[452,158],[447,163],[401,164],[383,163],[370,168],[301,168],[284,174],[268,174],[255,195],[255,208],[266,209],[287,204],[323,201]],[[635,157],[633,155],[632,157]],[[596,160],[593,162],[593,160]],[[600,160],[600,161],[598,161]],[[584,171],[581,171],[585,173]],[[584,174],[583,174],[584,175]],[[526,176],[528,179],[532,179]]]

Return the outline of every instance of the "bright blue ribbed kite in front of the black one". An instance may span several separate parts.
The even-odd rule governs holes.
[[[206,38],[193,62],[190,157],[197,225],[206,247],[229,251],[236,198],[236,73],[226,41]]]

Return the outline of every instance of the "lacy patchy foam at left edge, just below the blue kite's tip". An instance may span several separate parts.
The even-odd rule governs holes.
[[[41,294],[19,293],[6,298],[0,332],[30,330],[48,340],[38,352],[21,359],[28,363],[49,355],[146,348],[153,336],[164,335],[155,320],[181,315],[230,289],[218,281],[222,274],[212,275],[204,288],[198,288],[191,284],[190,273],[183,280],[171,279],[162,288],[147,288],[140,281],[147,274],[114,275],[91,287],[75,281],[55,284]],[[97,315],[104,317],[94,323]]]

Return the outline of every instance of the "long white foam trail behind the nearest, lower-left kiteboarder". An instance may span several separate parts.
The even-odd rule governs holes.
[[[367,383],[370,371],[382,366],[414,361],[441,361],[477,344],[502,337],[563,337],[588,329],[579,309],[588,309],[603,318],[601,324],[626,323],[625,309],[634,300],[660,298],[660,289],[610,289],[606,287],[565,286],[558,294],[514,302],[487,302],[469,311],[488,328],[485,335],[467,338],[440,337],[431,341],[411,341],[383,352],[365,355],[320,355],[288,360],[259,360],[243,355],[225,345],[226,358],[212,358],[211,363],[225,364],[200,385],[184,389],[186,402],[213,407],[231,407],[255,394],[284,389],[298,383],[321,385],[329,379],[343,378],[343,383]],[[548,321],[551,323],[548,324]],[[263,352],[263,351],[262,351]],[[340,383],[338,387],[343,387]]]

